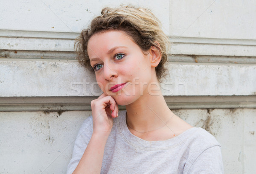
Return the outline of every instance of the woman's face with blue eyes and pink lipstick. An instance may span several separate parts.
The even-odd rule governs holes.
[[[151,54],[145,55],[124,31],[94,34],[87,48],[99,87],[117,104],[131,104],[146,94],[154,75]]]

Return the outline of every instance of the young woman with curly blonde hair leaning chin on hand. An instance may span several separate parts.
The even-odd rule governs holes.
[[[91,102],[67,173],[223,173],[220,144],[167,106],[168,38],[145,8],[104,8],[76,40],[103,94]],[[126,110],[118,110],[118,105]]]

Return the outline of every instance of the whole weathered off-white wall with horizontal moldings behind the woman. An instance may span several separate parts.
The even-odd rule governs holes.
[[[256,2],[121,0],[151,8],[173,42],[162,91],[170,109],[222,145],[227,174],[256,170]],[[65,173],[101,91],[73,43],[120,0],[0,4],[0,173]],[[125,109],[120,107],[120,109]]]

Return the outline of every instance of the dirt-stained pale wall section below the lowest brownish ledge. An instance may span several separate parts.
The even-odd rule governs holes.
[[[225,173],[255,172],[256,109],[173,111],[216,137]],[[89,115],[90,111],[0,112],[0,173],[65,173],[78,129]]]

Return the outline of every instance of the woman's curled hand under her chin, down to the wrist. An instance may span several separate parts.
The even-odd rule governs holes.
[[[93,113],[93,133],[109,135],[113,126],[113,118],[118,116],[116,101],[104,93],[91,101]]]

